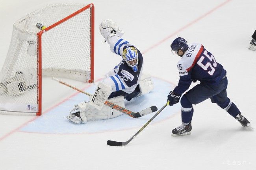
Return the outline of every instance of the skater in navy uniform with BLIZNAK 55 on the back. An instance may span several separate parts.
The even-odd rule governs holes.
[[[191,120],[193,116],[192,104],[198,104],[210,98],[212,103],[226,110],[242,126],[250,126],[250,122],[243,117],[237,106],[227,97],[226,88],[228,79],[226,70],[216,62],[214,56],[204,46],[198,43],[187,45],[184,38],[178,37],[171,44],[171,50],[181,57],[177,64],[180,80],[178,86],[168,95],[169,105],[179,102],[182,93],[191,82],[200,81],[181,98],[182,124],[173,129],[172,135],[188,135],[191,133]]]

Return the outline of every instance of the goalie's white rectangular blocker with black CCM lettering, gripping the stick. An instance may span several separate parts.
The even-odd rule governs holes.
[[[100,110],[112,92],[111,86],[100,82],[89,104]]]

